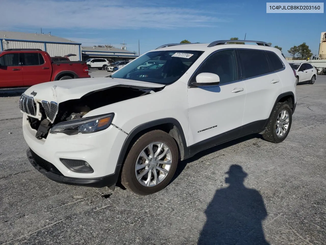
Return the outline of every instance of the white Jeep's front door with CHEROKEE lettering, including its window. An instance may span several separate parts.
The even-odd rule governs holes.
[[[200,73],[214,73],[220,84],[209,87],[191,87]],[[239,81],[235,51],[217,51],[208,57],[190,81],[189,144],[194,151],[236,138],[240,135],[246,90]]]

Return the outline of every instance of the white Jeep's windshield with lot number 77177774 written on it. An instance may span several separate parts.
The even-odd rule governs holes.
[[[111,77],[171,84],[185,74],[202,53],[193,50],[148,52],[126,64]]]

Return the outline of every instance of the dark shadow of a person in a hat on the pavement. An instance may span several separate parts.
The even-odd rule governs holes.
[[[231,165],[226,173],[229,186],[218,189],[208,205],[198,245],[269,245],[262,228],[267,211],[261,195],[244,186],[247,173],[241,166]]]

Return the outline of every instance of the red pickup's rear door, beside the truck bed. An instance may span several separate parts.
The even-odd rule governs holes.
[[[51,80],[52,64],[45,62],[40,53],[21,53],[24,86],[32,86]]]

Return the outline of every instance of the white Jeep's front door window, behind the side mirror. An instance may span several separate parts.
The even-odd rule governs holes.
[[[208,57],[199,67],[191,79],[196,82],[196,76],[208,72],[217,74],[220,77],[220,84],[238,80],[238,69],[234,50],[216,52]]]

